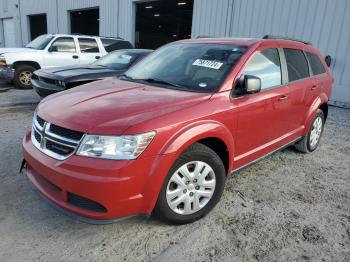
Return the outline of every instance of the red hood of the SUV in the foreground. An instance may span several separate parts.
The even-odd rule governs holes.
[[[210,96],[109,78],[48,96],[38,105],[37,113],[68,129],[119,135],[130,126],[193,106]]]

